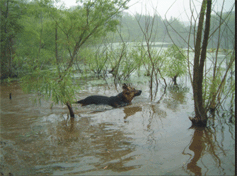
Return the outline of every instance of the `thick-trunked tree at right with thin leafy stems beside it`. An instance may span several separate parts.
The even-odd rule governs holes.
[[[195,56],[194,56],[194,69],[193,69],[193,94],[194,94],[194,105],[195,105],[195,117],[190,118],[193,125],[206,126],[208,115],[207,112],[210,111],[211,115],[214,117],[215,110],[218,107],[223,106],[223,102],[227,100],[228,97],[233,99],[235,97],[234,83],[231,70],[234,66],[234,56],[235,50],[223,50],[225,54],[224,58],[219,58],[220,47],[229,48],[231,45],[234,46],[234,42],[231,38],[228,42],[228,33],[233,33],[229,28],[228,23],[232,14],[232,10],[228,13],[223,14],[223,7],[225,1],[222,4],[222,11],[216,13],[219,20],[215,22],[210,30],[210,20],[211,20],[211,1],[203,1],[202,7],[205,11],[206,9],[206,23],[204,29],[204,37],[202,48],[200,47],[201,37],[202,37],[202,23],[203,22],[203,11],[200,12],[199,25],[196,36],[195,45]],[[232,7],[233,9],[233,7]],[[214,19],[214,18],[212,18]],[[223,25],[225,24],[225,25]],[[211,31],[211,32],[210,32]],[[206,68],[206,58],[207,58],[207,46],[210,40],[214,40],[216,43],[216,52],[214,57],[211,59],[213,64],[213,69]],[[231,41],[233,42],[231,44]],[[224,46],[223,43],[227,45]],[[212,44],[213,46],[214,44]],[[210,56],[209,58],[210,59]],[[228,81],[228,82],[227,82]],[[233,102],[230,102],[230,110],[232,110]],[[233,112],[230,114],[230,119]]]

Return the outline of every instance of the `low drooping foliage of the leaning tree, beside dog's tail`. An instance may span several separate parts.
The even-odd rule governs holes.
[[[39,98],[51,99],[56,104],[72,103],[75,91],[78,90],[72,78],[72,70],[63,78],[59,78],[55,68],[37,68],[31,74],[22,77],[21,82],[24,91],[37,92]]]

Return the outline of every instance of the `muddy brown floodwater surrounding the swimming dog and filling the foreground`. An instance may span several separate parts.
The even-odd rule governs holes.
[[[8,175],[234,175],[235,126],[212,119],[192,128],[191,91],[142,94],[122,108],[34,104],[18,83],[1,84],[0,172]],[[121,91],[121,87],[118,87]],[[12,99],[9,99],[9,93]],[[80,96],[116,95],[113,86],[84,86]],[[159,97],[159,95],[158,95]],[[158,98],[159,99],[159,98]]]

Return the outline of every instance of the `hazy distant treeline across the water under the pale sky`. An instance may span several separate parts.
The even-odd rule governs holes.
[[[231,13],[228,18],[227,15]],[[193,34],[197,31],[195,26],[197,24],[192,23],[192,26],[187,26],[188,22],[182,22],[177,18],[171,18],[169,20],[162,19],[161,16],[146,16],[136,14],[135,16],[129,13],[123,13],[120,19],[121,25],[118,32],[121,34],[124,41],[144,41],[144,34],[141,28],[150,32],[152,30],[152,42],[167,42],[175,43],[180,47],[188,47],[188,38],[190,37],[189,45],[194,46]],[[222,37],[218,38],[216,29],[221,26],[220,33]],[[220,17],[220,14],[212,15],[211,18],[211,31],[212,34],[208,48],[217,48],[218,41],[220,42],[220,48],[233,49],[234,35],[235,35],[235,11],[225,12]],[[150,31],[149,31],[150,30]],[[218,29],[219,30],[219,29]],[[114,33],[113,40],[121,41],[120,34]],[[189,34],[191,34],[189,36]]]

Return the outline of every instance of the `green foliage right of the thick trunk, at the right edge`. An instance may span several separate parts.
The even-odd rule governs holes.
[[[203,98],[206,109],[215,109],[227,97],[235,99],[234,53],[227,52],[222,60],[213,59],[213,70],[206,73],[203,85]],[[231,102],[233,105],[234,103]]]

